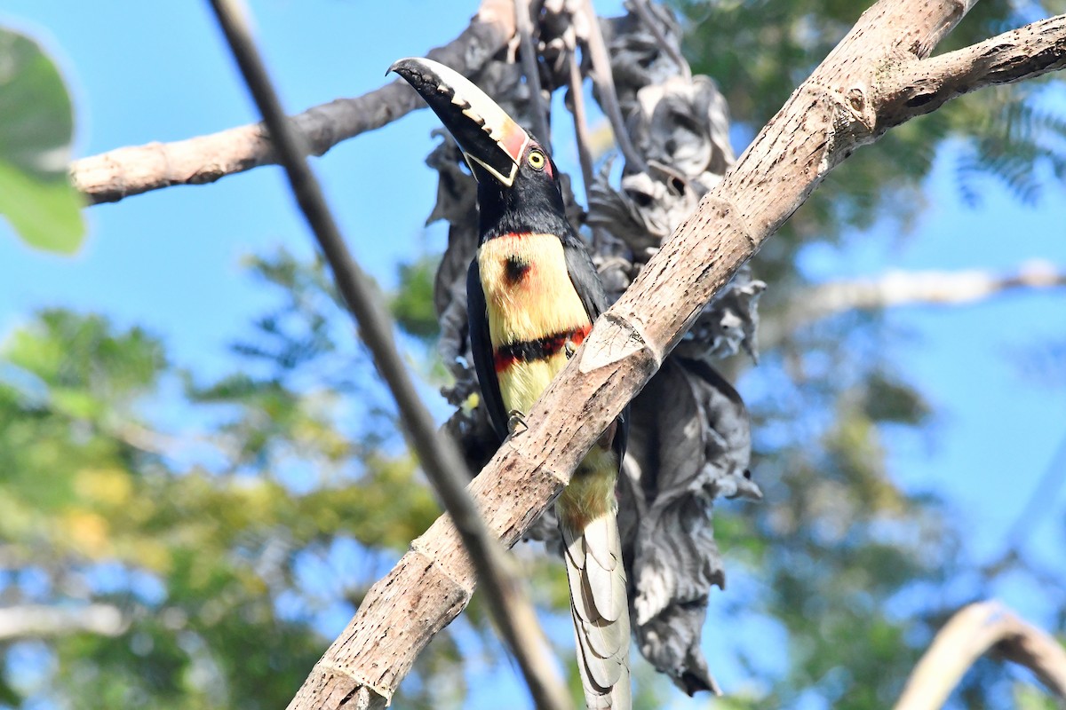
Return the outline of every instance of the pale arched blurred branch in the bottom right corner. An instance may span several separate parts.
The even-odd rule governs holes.
[[[940,708],[963,674],[994,646],[1066,699],[1066,650],[998,601],[971,604],[948,622],[915,666],[895,710]]]

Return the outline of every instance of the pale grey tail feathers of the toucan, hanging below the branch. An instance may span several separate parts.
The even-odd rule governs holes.
[[[574,516],[560,515],[578,670],[589,710],[630,710],[632,705],[626,569],[613,509],[612,500],[611,510],[583,528]]]

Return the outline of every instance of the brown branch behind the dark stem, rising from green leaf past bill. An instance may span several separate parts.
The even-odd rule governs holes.
[[[430,56],[474,76],[515,34],[508,0],[483,0],[470,26]],[[385,67],[382,67],[384,73]],[[382,128],[425,106],[401,80],[353,99],[336,99],[292,117],[313,155],[341,141]],[[174,143],[149,143],[83,158],[70,165],[70,181],[91,204],[117,202],[172,185],[199,185],[235,172],[277,163],[262,123],[249,123]]]

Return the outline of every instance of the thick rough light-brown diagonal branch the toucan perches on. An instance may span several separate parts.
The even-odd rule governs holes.
[[[790,97],[697,211],[647,263],[623,297],[600,317],[584,344],[528,413],[528,428],[508,439],[470,484],[489,529],[514,544],[569,481],[595,440],[658,369],[691,320],[829,170],[875,141],[892,97],[881,90],[908,61],[924,61],[974,0],[881,0]],[[1066,51],[1066,28],[1053,44]],[[1024,44],[1015,50],[1028,55]],[[1019,70],[1012,77],[1025,77]],[[920,113],[910,109],[911,115]],[[893,114],[897,122],[902,122]],[[345,653],[318,666],[291,708],[339,708],[364,689],[388,693],[406,672],[416,644],[398,649],[403,620],[439,629],[461,611],[459,595],[432,593],[441,571],[467,579],[473,569],[447,519],[439,519],[368,593],[335,643]],[[404,593],[403,590],[410,590]],[[383,640],[388,654],[381,651]],[[361,687],[335,682],[341,667]],[[376,691],[375,691],[376,692]]]

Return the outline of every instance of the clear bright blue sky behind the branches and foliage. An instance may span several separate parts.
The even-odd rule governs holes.
[[[619,4],[598,9],[610,13]],[[293,113],[382,85],[393,60],[450,40],[477,10],[472,0],[251,5],[262,51]],[[6,0],[0,22],[29,31],[59,56],[76,98],[79,155],[256,119],[206,2]],[[423,228],[435,194],[434,174],[423,161],[436,126],[429,112],[416,112],[314,161],[352,251],[386,286],[395,283],[399,259],[443,246],[439,229]],[[564,163],[567,151],[558,151]],[[838,169],[846,175],[846,163]],[[1066,269],[1061,187],[1049,187],[1037,205],[1023,205],[987,183],[983,205],[970,209],[944,154],[926,193],[930,207],[907,238],[891,238],[891,228],[877,225],[843,250],[811,249],[808,271],[833,280],[891,269],[1011,270],[1035,258]],[[227,344],[270,298],[242,270],[241,257],[279,244],[302,254],[311,248],[274,167],[93,208],[87,218],[88,238],[72,259],[29,249],[0,225],[0,339],[43,307],[100,311],[124,325],[147,325],[179,364],[205,376],[222,374],[232,364]],[[890,475],[909,490],[943,495],[972,533],[973,554],[991,559],[1066,440],[1064,384],[1032,376],[1022,357],[1041,342],[1063,340],[1066,294],[906,307],[888,318],[909,333],[892,346],[892,356],[935,408],[934,425],[923,434],[886,431]],[[743,381],[740,389],[743,394]],[[1025,550],[1062,571],[1056,552],[1064,543],[1064,492],[1049,506]],[[1034,621],[1048,621],[1048,591],[1007,583],[995,592]],[[709,635],[712,670],[728,692],[745,679],[726,649],[724,639]]]

